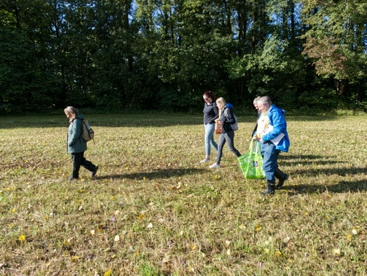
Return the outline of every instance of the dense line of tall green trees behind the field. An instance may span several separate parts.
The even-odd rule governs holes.
[[[0,112],[366,110],[366,0],[1,0]]]

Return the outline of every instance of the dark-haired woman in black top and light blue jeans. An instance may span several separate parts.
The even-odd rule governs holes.
[[[211,91],[207,91],[202,95],[205,101],[204,110],[204,127],[205,127],[205,158],[200,163],[205,163],[210,160],[211,146],[218,152],[218,144],[214,141],[214,128],[216,119],[218,119],[218,108],[216,104],[216,96]]]

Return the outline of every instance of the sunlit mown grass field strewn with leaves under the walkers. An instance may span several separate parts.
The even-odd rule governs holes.
[[[199,164],[200,115],[85,116],[78,181],[64,115],[0,117],[0,275],[367,275],[367,117],[286,117],[290,178],[263,197],[227,146]]]

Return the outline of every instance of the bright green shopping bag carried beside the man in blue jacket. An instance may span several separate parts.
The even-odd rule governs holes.
[[[241,170],[247,179],[260,179],[265,177],[264,170],[262,170],[260,144],[259,142],[255,144],[255,150],[253,150],[253,140],[251,140],[249,153],[238,157]]]

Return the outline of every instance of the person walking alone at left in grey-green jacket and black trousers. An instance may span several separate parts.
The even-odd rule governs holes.
[[[69,119],[70,125],[67,130],[67,152],[72,154],[73,170],[72,176],[67,180],[79,178],[79,169],[81,166],[92,172],[92,177],[96,175],[98,166],[87,161],[84,152],[87,150],[87,143],[83,140],[83,119],[84,116],[78,113],[78,110],[72,106],[64,109],[66,117]]]

